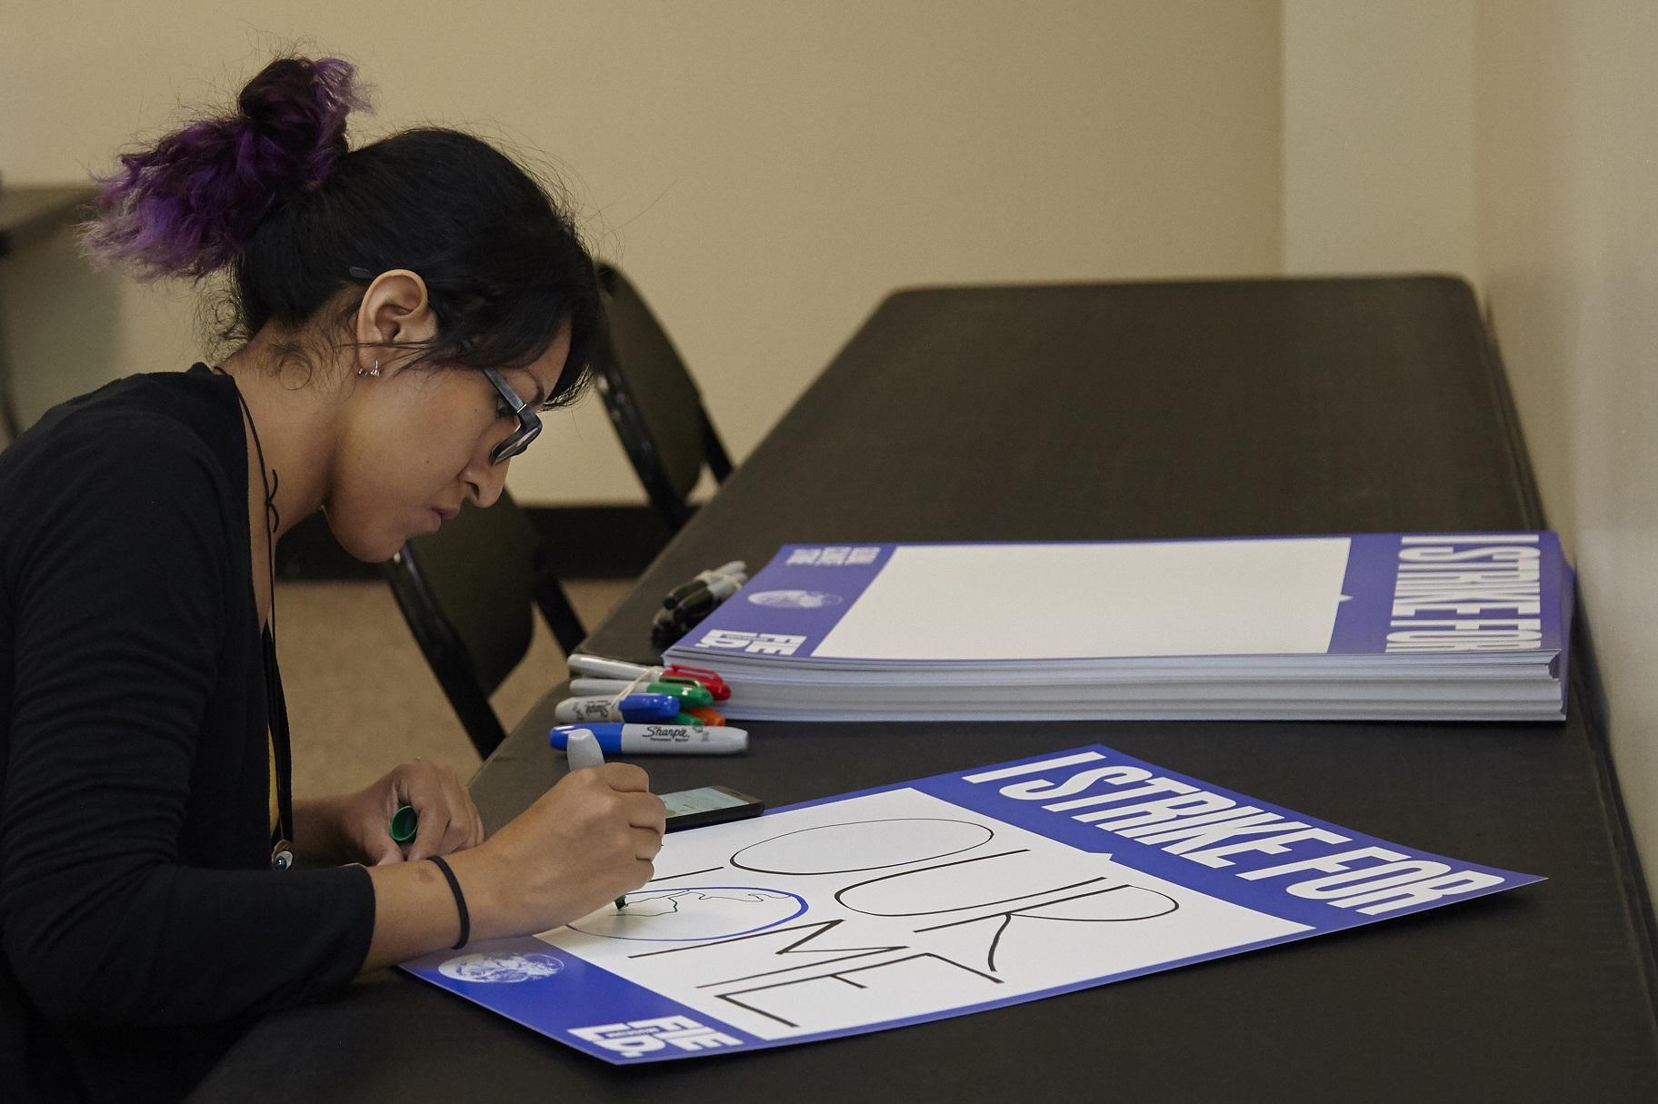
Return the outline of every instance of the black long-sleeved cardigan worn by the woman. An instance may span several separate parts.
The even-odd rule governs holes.
[[[368,951],[361,867],[270,869],[245,449],[197,365],[0,454],[3,1101],[177,1099]]]

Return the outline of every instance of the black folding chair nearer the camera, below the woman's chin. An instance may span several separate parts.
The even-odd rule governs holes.
[[[506,729],[489,695],[529,651],[531,603],[565,655],[587,630],[529,521],[502,491],[489,509],[466,504],[385,565],[391,593],[466,734],[487,758]]]

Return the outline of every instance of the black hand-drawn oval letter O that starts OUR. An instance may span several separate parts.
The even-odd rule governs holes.
[[[731,865],[756,874],[854,874],[972,850],[995,835],[972,821],[895,817],[786,832],[749,844]]]

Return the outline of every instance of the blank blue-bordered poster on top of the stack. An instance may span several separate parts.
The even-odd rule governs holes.
[[[1554,532],[789,544],[667,656],[759,668],[1552,656],[1570,628],[1568,583]]]

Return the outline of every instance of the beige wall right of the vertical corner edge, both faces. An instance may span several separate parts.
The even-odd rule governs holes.
[[[1285,0],[1287,272],[1476,282],[1658,885],[1658,5]]]

